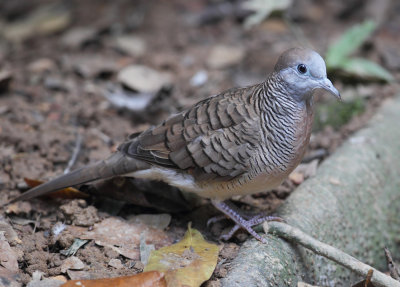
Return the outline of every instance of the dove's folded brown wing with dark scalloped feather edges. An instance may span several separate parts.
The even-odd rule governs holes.
[[[189,172],[197,180],[236,177],[248,170],[251,149],[260,142],[253,104],[256,88],[231,90],[201,101],[122,144],[120,150]]]

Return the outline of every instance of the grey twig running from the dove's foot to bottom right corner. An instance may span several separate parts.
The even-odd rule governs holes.
[[[324,256],[363,277],[366,277],[368,275],[368,271],[372,269],[374,274],[371,278],[371,282],[376,286],[400,287],[400,282],[394,280],[393,278],[383,274],[375,268],[355,259],[354,257],[335,247],[316,240],[315,238],[305,234],[303,231],[288,224],[282,222],[268,222],[264,223],[264,230],[266,233],[277,234],[289,241],[300,244],[316,254]]]

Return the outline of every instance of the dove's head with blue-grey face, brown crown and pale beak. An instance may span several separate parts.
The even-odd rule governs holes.
[[[326,76],[325,61],[315,51],[292,48],[284,52],[275,65],[275,73],[297,101],[311,98],[314,91],[323,89],[340,99],[339,91]]]

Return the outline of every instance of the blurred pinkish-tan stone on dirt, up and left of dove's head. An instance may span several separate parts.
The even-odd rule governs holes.
[[[227,68],[238,64],[245,55],[240,47],[218,45],[215,46],[207,59],[207,66],[213,69]]]

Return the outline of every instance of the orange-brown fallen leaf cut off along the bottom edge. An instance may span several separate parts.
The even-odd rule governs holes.
[[[133,276],[94,280],[71,280],[60,287],[167,287],[164,274],[158,271],[144,272]]]

